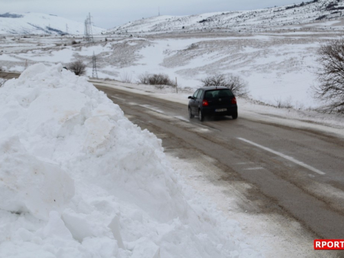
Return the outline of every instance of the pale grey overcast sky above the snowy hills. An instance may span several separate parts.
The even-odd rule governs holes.
[[[190,15],[205,12],[253,10],[299,3],[302,0],[0,0],[0,13],[41,12],[74,21],[91,13],[94,25],[117,25],[158,15]]]

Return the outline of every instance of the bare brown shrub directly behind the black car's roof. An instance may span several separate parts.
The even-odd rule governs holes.
[[[234,74],[214,74],[201,80],[203,86],[224,86],[228,87],[236,96],[248,94],[247,83],[240,76]]]

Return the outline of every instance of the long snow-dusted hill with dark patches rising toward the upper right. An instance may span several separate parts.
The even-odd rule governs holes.
[[[290,6],[250,11],[212,12],[191,16],[140,19],[109,32],[166,32],[182,30],[229,30],[259,32],[288,28],[314,21],[343,17],[344,0],[312,0]]]

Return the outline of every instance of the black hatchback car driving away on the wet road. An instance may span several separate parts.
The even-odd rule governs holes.
[[[203,87],[189,96],[189,118],[198,116],[232,116],[237,119],[237,100],[227,87]]]

